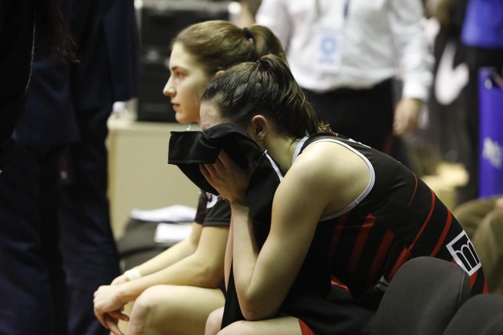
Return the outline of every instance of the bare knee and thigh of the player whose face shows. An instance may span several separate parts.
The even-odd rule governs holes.
[[[224,302],[217,288],[152,286],[136,299],[126,334],[202,335],[208,315]]]

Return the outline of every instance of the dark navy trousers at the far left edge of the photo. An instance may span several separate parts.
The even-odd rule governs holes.
[[[7,143],[0,174],[1,335],[67,333],[57,217],[63,149]]]

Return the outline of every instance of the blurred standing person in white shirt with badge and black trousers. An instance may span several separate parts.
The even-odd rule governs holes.
[[[256,19],[279,37],[295,79],[333,131],[390,153],[393,134],[416,129],[433,79],[420,0],[263,0]]]

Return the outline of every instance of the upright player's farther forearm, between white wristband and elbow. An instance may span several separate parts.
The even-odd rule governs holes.
[[[185,239],[145,263],[136,266],[135,269],[142,276],[147,276],[189,257],[196,252],[196,249],[197,244],[193,243],[190,239]]]

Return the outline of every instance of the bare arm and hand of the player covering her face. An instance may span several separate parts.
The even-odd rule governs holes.
[[[261,320],[278,312],[319,218],[353,202],[368,185],[370,173],[359,156],[338,144],[317,144],[304,151],[276,190],[271,230],[259,251],[242,191],[233,186],[241,184],[245,173],[236,169],[221,155],[203,171],[231,201],[233,272],[241,311],[247,320]]]

